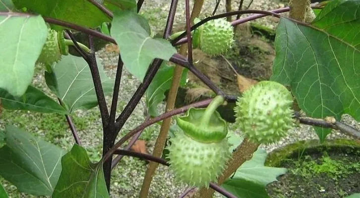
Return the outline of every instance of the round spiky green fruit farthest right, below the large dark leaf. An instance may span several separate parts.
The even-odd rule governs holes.
[[[291,93],[280,83],[261,81],[238,99],[236,123],[255,143],[279,141],[294,127]]]

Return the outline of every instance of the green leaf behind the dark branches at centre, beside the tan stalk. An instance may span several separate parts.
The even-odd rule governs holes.
[[[170,89],[173,81],[174,67],[163,63],[153,81],[146,90],[146,106],[151,116],[158,116],[158,104],[165,99],[164,93]],[[186,83],[187,69],[182,71],[180,85]]]

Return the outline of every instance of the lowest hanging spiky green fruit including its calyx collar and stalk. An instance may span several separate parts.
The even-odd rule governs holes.
[[[208,188],[226,167],[231,157],[227,123],[215,111],[223,102],[219,96],[207,108],[189,108],[177,117],[182,131],[170,139],[168,158],[178,180]]]

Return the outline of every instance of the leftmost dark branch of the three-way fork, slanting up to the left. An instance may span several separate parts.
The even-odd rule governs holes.
[[[89,46],[91,49],[91,55],[90,55],[88,64],[89,64],[91,76],[92,76],[92,79],[94,82],[96,98],[98,99],[98,103],[99,103],[103,128],[106,128],[109,123],[109,111],[108,111],[108,107],[106,105],[103,86],[101,84],[101,78],[100,78],[98,64],[96,62],[96,56],[95,56],[95,46],[94,46],[94,42],[93,42],[93,37],[91,35],[89,35]]]

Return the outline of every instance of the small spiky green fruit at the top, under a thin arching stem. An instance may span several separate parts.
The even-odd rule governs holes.
[[[231,49],[234,43],[234,30],[224,18],[206,22],[194,31],[194,48],[209,55],[220,55]]]

